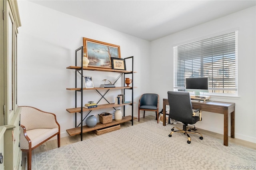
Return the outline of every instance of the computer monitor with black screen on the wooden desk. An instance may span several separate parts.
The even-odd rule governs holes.
[[[186,78],[186,91],[200,95],[200,92],[208,93],[208,77]]]

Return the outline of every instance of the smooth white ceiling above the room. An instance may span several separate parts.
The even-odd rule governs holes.
[[[256,5],[256,0],[30,0],[152,41]]]

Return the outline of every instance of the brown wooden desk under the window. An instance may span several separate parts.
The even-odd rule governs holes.
[[[231,137],[235,138],[235,103],[220,101],[191,102],[193,109],[200,109],[212,113],[224,115],[224,145],[228,146],[228,119],[231,115]],[[169,105],[168,99],[163,99],[163,126],[166,126],[166,105]]]

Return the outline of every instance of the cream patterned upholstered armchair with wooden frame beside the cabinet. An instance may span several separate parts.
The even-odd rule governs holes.
[[[57,135],[60,147],[60,125],[56,115],[29,106],[20,106],[20,149],[27,152],[31,170],[32,150]]]

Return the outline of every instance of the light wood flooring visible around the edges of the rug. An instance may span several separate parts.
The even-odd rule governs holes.
[[[145,118],[140,118],[140,122],[138,122],[138,119],[135,119],[133,125],[138,125],[139,123],[151,121],[151,120],[154,120],[155,118],[156,118],[155,116],[150,115],[150,116],[146,116]],[[160,122],[160,123],[162,123],[162,122]],[[126,128],[126,127],[130,127],[130,126],[132,126],[132,123],[130,121],[121,124],[121,128]],[[176,124],[175,126],[182,128],[182,124]],[[171,130],[170,130],[170,132],[171,132]],[[211,132],[211,131],[203,130],[203,129],[199,129],[199,128],[198,128],[198,130],[196,130],[196,132],[199,132],[203,135],[207,135],[207,136],[211,136],[211,137],[223,140],[222,134],[218,134],[215,132]],[[83,140],[86,140],[88,138],[93,138],[95,136],[97,136],[97,135],[94,132],[86,132],[83,134]],[[66,137],[63,137],[60,139],[60,146],[65,146],[65,145],[72,144],[72,143],[79,142],[79,141],[81,141],[80,135],[66,136]],[[231,137],[228,138],[228,142],[256,150],[256,144],[252,143],[252,142],[248,142],[248,141],[237,139],[237,138],[231,138]],[[51,150],[54,148],[58,148],[57,139],[49,140],[49,141],[45,142],[44,144],[42,144],[41,146],[38,146],[37,148],[32,150],[32,154],[44,152],[46,150]],[[25,164],[26,164],[26,153],[22,153],[22,170],[25,170]]]

